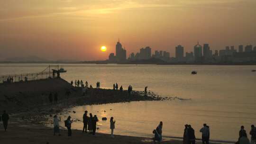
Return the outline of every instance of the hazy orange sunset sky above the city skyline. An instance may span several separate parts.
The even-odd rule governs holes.
[[[0,60],[105,60],[118,38],[174,56],[176,45],[256,45],[256,0],[1,0]],[[101,45],[107,46],[101,52]]]

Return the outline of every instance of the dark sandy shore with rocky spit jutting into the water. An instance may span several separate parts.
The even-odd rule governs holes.
[[[106,104],[116,102],[130,102],[139,100],[167,100],[153,92],[147,96],[143,92],[134,91],[128,95],[127,91],[105,89],[89,89],[86,96],[82,95],[82,88],[73,87],[63,79],[49,79],[29,81],[27,83],[12,83],[0,85],[0,104],[9,113],[8,131],[0,128],[0,139],[5,144],[144,144],[153,143],[151,138],[116,135],[111,138],[107,134],[92,136],[83,134],[80,130],[73,130],[73,137],[67,137],[66,129],[62,129],[61,136],[54,136],[53,129],[44,124],[48,116],[61,114],[64,108],[79,105]],[[65,91],[71,91],[69,98]],[[48,101],[49,92],[58,92],[58,103]],[[2,127],[2,124],[1,124]],[[163,144],[169,143],[165,141]],[[180,144],[181,141],[173,141]]]

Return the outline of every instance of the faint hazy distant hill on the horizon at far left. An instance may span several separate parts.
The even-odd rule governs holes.
[[[37,56],[27,56],[27,57],[10,57],[6,58],[3,61],[6,62],[46,62],[47,59],[40,58]]]

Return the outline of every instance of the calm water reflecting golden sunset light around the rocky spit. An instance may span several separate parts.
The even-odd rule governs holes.
[[[0,74],[40,72],[48,64],[0,64]],[[256,66],[214,65],[97,65],[64,64],[66,81],[83,80],[112,89],[115,82],[127,89],[148,90],[167,97],[191,100],[143,101],[75,107],[73,118],[82,119],[84,110],[101,117],[114,117],[115,134],[152,136],[153,129],[163,121],[164,136],[182,136],[183,125],[191,124],[196,136],[203,123],[210,126],[211,139],[232,140],[244,125],[256,125]],[[191,75],[197,71],[197,75]],[[112,109],[112,110],[110,110]],[[104,112],[106,110],[106,112]],[[97,112],[99,111],[99,112]],[[99,132],[110,133],[110,122],[98,123]],[[81,129],[82,122],[73,128]]]

